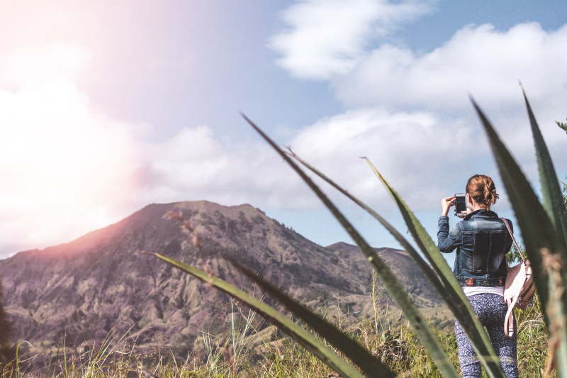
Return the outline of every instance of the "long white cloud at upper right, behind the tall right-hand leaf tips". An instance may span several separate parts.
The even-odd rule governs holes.
[[[472,94],[501,108],[517,102],[521,80],[532,98],[551,98],[567,85],[566,49],[567,26],[466,26],[424,55],[393,45],[372,50],[340,79],[337,97],[348,106],[455,111],[468,109]]]

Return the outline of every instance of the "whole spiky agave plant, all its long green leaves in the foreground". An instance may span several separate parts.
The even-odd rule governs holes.
[[[558,377],[567,378],[567,330],[565,327],[567,294],[564,290],[567,279],[566,267],[564,265],[564,261],[567,258],[567,213],[563,204],[563,196],[558,185],[558,179],[551,163],[551,157],[549,156],[543,138],[541,138],[539,127],[537,126],[537,122],[535,121],[525,94],[524,99],[536,144],[543,204],[540,204],[529,182],[527,182],[527,179],[520,171],[520,167],[518,167],[517,163],[512,159],[510,152],[507,151],[502,141],[495,133],[495,130],[490,125],[490,122],[474,101],[473,106],[478,116],[481,118],[481,122],[488,135],[490,146],[493,150],[498,168],[500,169],[500,175],[503,178],[505,188],[512,202],[512,208],[517,216],[518,225],[522,231],[527,255],[529,255],[534,267],[534,281],[537,285],[542,304],[541,308],[549,333],[551,360],[556,363]],[[420,267],[425,277],[430,280],[432,287],[437,290],[440,297],[447,301],[447,306],[449,306],[454,317],[461,323],[468,338],[471,339],[473,347],[476,349],[478,358],[481,360],[488,377],[505,376],[502,367],[500,367],[498,357],[495,355],[483,327],[474,315],[468,300],[464,296],[447,262],[444,260],[439,250],[437,250],[437,246],[430,238],[430,235],[427,234],[425,228],[417,220],[417,217],[415,217],[408,206],[406,206],[403,199],[401,199],[393,187],[386,182],[386,179],[381,176],[374,166],[371,165],[372,169],[374,169],[378,178],[386,186],[391,196],[393,196],[420,252],[412,248],[412,245],[408,240],[403,238],[403,235],[399,233],[398,230],[395,230],[390,223],[379,216],[378,213],[371,210],[369,206],[366,206],[354,196],[348,194],[346,190],[332,182],[332,180],[328,179],[314,167],[303,162],[303,160],[299,159],[293,153],[286,153],[281,150],[281,148],[254,125],[252,121],[246,117],[245,119],[300,175],[303,181],[305,181],[310,189],[321,199],[323,204],[327,206],[327,209],[331,211],[333,216],[337,218],[337,221],[347,230],[347,233],[349,233],[354,242],[359,246],[361,252],[369,260],[372,269],[374,269],[376,274],[381,278],[388,293],[391,294],[406,318],[408,318],[415,334],[420,338],[422,344],[425,345],[427,352],[444,377],[457,377],[456,370],[447,352],[444,351],[437,337],[430,327],[427,326],[425,318],[412,304],[408,293],[403,289],[386,264],[376,255],[374,249],[371,248],[368,243],[366,243],[366,240],[357,232],[352,223],[342,215],[337,206],[335,206],[320,188],[315,185],[310,177],[303,172],[303,169],[293,161],[294,158],[312,172],[325,179],[363,209],[369,211],[376,220],[392,233],[396,240],[403,245],[408,254],[415,260],[417,266]],[[342,352],[358,369],[355,369],[347,360],[344,360],[333,352],[331,348],[320,343],[318,338],[314,338],[313,335],[305,331],[301,326],[293,323],[293,321],[283,316],[274,308],[249,296],[249,294],[246,294],[244,291],[218,278],[212,277],[210,274],[196,269],[195,267],[169,259],[169,257],[158,254],[153,255],[239,299],[247,306],[254,309],[254,311],[257,311],[259,315],[264,317],[267,321],[281,328],[283,332],[290,335],[294,340],[298,341],[298,343],[344,377],[359,377],[361,374],[358,369],[367,377],[392,377],[395,375],[376,357],[372,356],[364,348],[361,348],[358,343],[348,338],[347,335],[344,335],[341,330],[327,323],[320,316],[298,303],[298,301],[291,299],[291,297],[283,293],[283,291],[277,289],[264,279],[257,277],[257,274],[250,272],[247,268],[238,265],[236,262],[232,263],[237,269],[240,269],[243,274],[259,284],[264,291],[277,299],[288,311],[305,322],[311,329],[318,333],[320,337],[325,338],[333,348]],[[422,255],[425,256],[425,260],[421,257]]]

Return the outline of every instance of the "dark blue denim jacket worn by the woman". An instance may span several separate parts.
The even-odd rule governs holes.
[[[512,222],[507,220],[512,229]],[[504,222],[493,211],[469,213],[449,232],[449,217],[439,217],[437,248],[449,253],[456,248],[453,272],[461,286],[503,286],[506,279],[506,253],[512,237]]]

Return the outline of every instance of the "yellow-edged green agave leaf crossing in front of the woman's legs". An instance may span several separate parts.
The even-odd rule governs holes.
[[[447,265],[447,260],[444,259],[437,245],[433,243],[429,233],[427,233],[408,205],[405,204],[405,201],[403,201],[398,192],[384,179],[370,160],[366,159],[366,161],[395,200],[415,243],[420,246],[420,250],[422,250],[434,271],[439,275],[439,279],[442,281],[445,289],[444,293],[440,294],[471,340],[478,360],[480,360],[481,364],[486,369],[486,373],[489,377],[505,377],[502,366],[490,343],[490,339],[474,313],[471,304],[468,302],[468,299],[466,299],[461,285],[459,285],[454,273],[449,268],[449,265]]]

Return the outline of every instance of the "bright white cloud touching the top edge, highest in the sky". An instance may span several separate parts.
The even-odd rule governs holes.
[[[430,2],[386,0],[305,0],[283,12],[289,28],[269,46],[293,76],[328,79],[346,74],[366,55],[371,40],[388,35],[400,22],[429,11]]]

